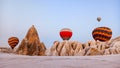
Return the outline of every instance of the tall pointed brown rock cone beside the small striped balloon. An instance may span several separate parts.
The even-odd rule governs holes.
[[[21,55],[45,55],[46,47],[44,43],[41,43],[37,30],[34,25],[28,30],[25,38],[22,40],[18,49],[16,50],[17,54]]]

